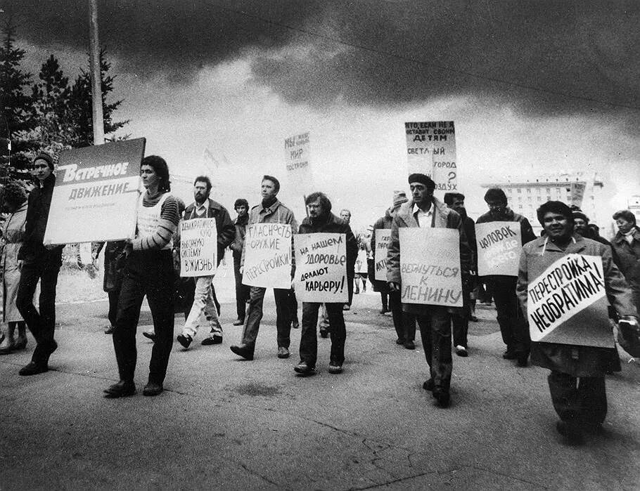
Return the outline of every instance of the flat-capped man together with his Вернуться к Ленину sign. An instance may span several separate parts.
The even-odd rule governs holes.
[[[435,183],[424,174],[411,174],[409,186],[413,199],[400,207],[391,227],[387,280],[392,291],[401,293],[403,310],[416,315],[420,326],[430,370],[423,388],[432,391],[440,407],[447,407],[451,312],[463,305],[471,252],[460,215],[433,197]],[[413,264],[407,262],[414,257]]]

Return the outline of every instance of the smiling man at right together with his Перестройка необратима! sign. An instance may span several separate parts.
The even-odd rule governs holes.
[[[529,319],[531,361],[551,370],[556,429],[577,441],[601,426],[607,412],[604,376],[620,371],[607,299],[636,328],[637,312],[610,248],[573,233],[566,204],[546,202],[537,216],[546,235],[523,247],[518,298]]]

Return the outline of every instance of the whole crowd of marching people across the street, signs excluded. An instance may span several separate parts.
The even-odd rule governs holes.
[[[8,182],[3,190],[6,220],[2,228],[1,268],[3,272],[3,333],[0,354],[25,350],[27,327],[36,346],[31,361],[20,369],[29,376],[49,369],[49,358],[56,351],[56,284],[61,265],[62,246],[45,245],[44,231],[51,206],[56,177],[50,155],[40,154],[32,162],[36,186],[28,193],[17,182]],[[603,265],[603,282],[610,308],[612,325],[617,322],[623,347],[631,353],[638,336],[640,310],[640,228],[631,211],[613,215],[618,232],[609,242],[599,235],[599,228],[589,223],[580,209],[563,202],[549,201],[537,210],[542,226],[537,237],[524,216],[508,207],[503,190],[492,188],[485,194],[487,212],[477,221],[466,214],[465,196],[448,192],[444,201],[434,196],[435,183],[425,174],[411,174],[407,192],[397,192],[392,204],[370,229],[370,237],[356,236],[350,227],[351,212],[332,212],[330,198],[323,192],[305,197],[307,216],[300,225],[293,211],[278,199],[279,180],[264,176],[260,183],[261,201],[249,207],[246,199],[234,204],[235,220],[210,197],[212,183],[207,176],[193,182],[193,202],[185,206],[174,197],[169,181],[169,167],[161,157],[145,157],[140,167],[144,191],[137,204],[136,235],[132,239],[93,244],[94,259],[104,250],[103,289],[108,293],[110,325],[105,330],[113,336],[113,348],[119,381],[105,389],[105,397],[120,398],[136,393],[136,329],[143,299],[146,297],[153,317],[153,330],[143,334],[153,340],[144,395],[158,395],[163,384],[174,339],[188,349],[198,332],[203,345],[223,342],[220,306],[214,276],[179,278],[179,223],[195,218],[215,218],[217,261],[231,249],[236,283],[235,326],[242,326],[237,343],[229,345],[236,356],[253,360],[257,336],[263,316],[267,288],[243,284],[245,266],[245,233],[258,223],[279,223],[292,233],[344,234],[346,241],[346,275],[348,301],[316,303],[302,301],[302,316],[297,315],[295,282],[290,288],[274,288],[276,303],[276,345],[278,358],[290,356],[291,329],[301,327],[299,361],[295,373],[309,376],[318,369],[318,337],[331,337],[327,370],[343,372],[347,327],[344,310],[352,303],[353,294],[365,292],[367,283],[380,294],[380,313],[390,313],[396,343],[409,350],[415,348],[416,326],[428,364],[429,377],[423,388],[430,391],[439,407],[450,405],[452,353],[466,357],[469,322],[475,317],[475,303],[482,290],[494,301],[501,338],[503,358],[514,360],[520,367],[529,362],[550,370],[551,402],[558,413],[558,432],[567,438],[580,438],[585,431],[596,431],[607,409],[605,375],[620,370],[613,334],[610,346],[586,346],[555,342],[532,342],[527,322],[527,286],[559,258],[569,254],[597,256]],[[519,224],[522,253],[518,275],[478,276],[478,249],[475,226],[491,222]],[[462,306],[403,303],[401,263],[402,229],[442,228],[454,230],[459,238],[459,270],[462,284]],[[390,233],[385,258],[376,258],[376,235]],[[423,247],[434,247],[425,243]],[[385,261],[386,280],[376,278],[374,264]],[[295,276],[295,264],[291,268]],[[39,294],[37,285],[39,284]],[[34,296],[39,296],[38,307]],[[177,297],[181,308],[176,308]],[[184,311],[184,323],[174,338],[174,314]],[[622,331],[621,331],[622,332]],[[630,334],[629,334],[630,333]],[[625,337],[626,336],[626,337]]]

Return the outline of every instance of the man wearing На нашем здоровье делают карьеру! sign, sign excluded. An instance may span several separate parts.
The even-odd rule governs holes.
[[[331,213],[331,201],[322,192],[314,192],[305,199],[309,216],[302,221],[298,233],[339,233],[346,235],[347,277],[353,277],[354,265],[358,254],[358,243],[351,227],[342,219]],[[312,374],[316,369],[318,358],[318,309],[321,303],[302,302],[302,334],[300,337],[300,363],[294,370],[299,374]],[[343,303],[325,303],[329,324],[331,325],[331,360],[329,373],[339,374],[343,371],[345,361],[345,340],[347,330],[343,315]]]

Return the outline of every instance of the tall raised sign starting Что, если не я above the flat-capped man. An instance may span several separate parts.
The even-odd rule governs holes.
[[[404,123],[409,174],[420,172],[435,181],[435,189],[458,189],[456,130],[452,121]]]

